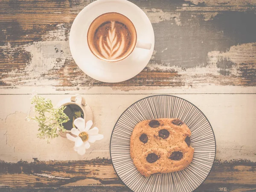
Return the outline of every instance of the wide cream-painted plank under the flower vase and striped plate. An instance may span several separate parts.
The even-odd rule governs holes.
[[[70,95],[42,95],[56,105]],[[17,163],[39,160],[90,160],[110,158],[110,137],[119,116],[140,99],[150,94],[90,94],[83,95],[93,109],[95,126],[104,139],[95,142],[83,156],[74,150],[74,143],[61,137],[47,144],[37,138],[38,125],[26,121],[33,115],[30,95],[0,95],[0,160]],[[175,95],[192,102],[209,119],[217,143],[216,158],[256,161],[255,130],[256,94],[183,94]],[[19,102],[17,102],[19,101]]]

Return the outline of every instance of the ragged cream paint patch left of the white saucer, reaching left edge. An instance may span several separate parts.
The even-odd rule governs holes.
[[[67,41],[39,41],[24,46],[17,46],[11,48],[9,44],[1,46],[0,49],[3,49],[5,54],[9,54],[11,50],[13,53],[9,54],[6,57],[11,57],[13,63],[17,58],[15,58],[15,53],[18,50],[23,50],[23,53],[29,55],[29,60],[25,60],[23,64],[24,67],[19,68],[10,68],[9,71],[1,71],[1,81],[4,81],[6,84],[12,83],[12,81],[17,78],[18,84],[27,84],[33,85],[35,81],[33,79],[40,79],[42,75],[47,74],[50,70],[60,69],[66,59],[72,58],[69,45]],[[59,51],[56,52],[55,49]],[[21,78],[25,77],[25,78]],[[44,79],[37,81],[38,85],[47,85],[49,84],[49,79]],[[53,83],[56,84],[55,81]]]

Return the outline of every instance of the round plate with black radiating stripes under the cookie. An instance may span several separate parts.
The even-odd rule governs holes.
[[[158,118],[178,118],[190,128],[192,163],[183,171],[144,177],[130,156],[130,137],[137,123]],[[215,136],[208,119],[195,105],[176,96],[141,99],[119,117],[111,135],[110,154],[120,179],[134,192],[192,192],[209,175],[216,154]]]

